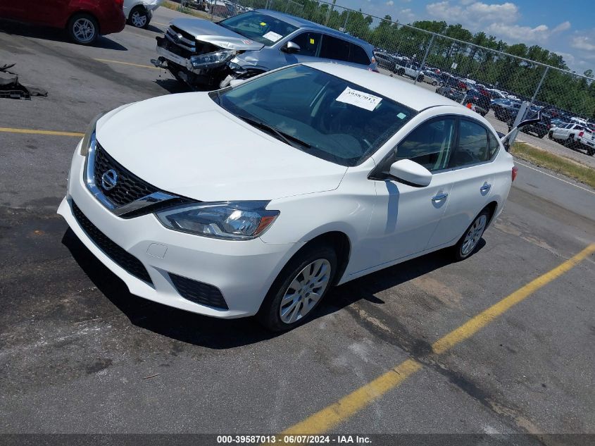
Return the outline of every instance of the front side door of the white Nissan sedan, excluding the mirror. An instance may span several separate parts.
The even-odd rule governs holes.
[[[380,168],[387,172],[395,161],[411,159],[432,172],[441,171],[449,161],[455,133],[454,117],[427,120],[399,142]],[[378,264],[424,251],[449,202],[451,179],[434,175],[427,187],[415,187],[382,174],[375,186],[369,240]]]

